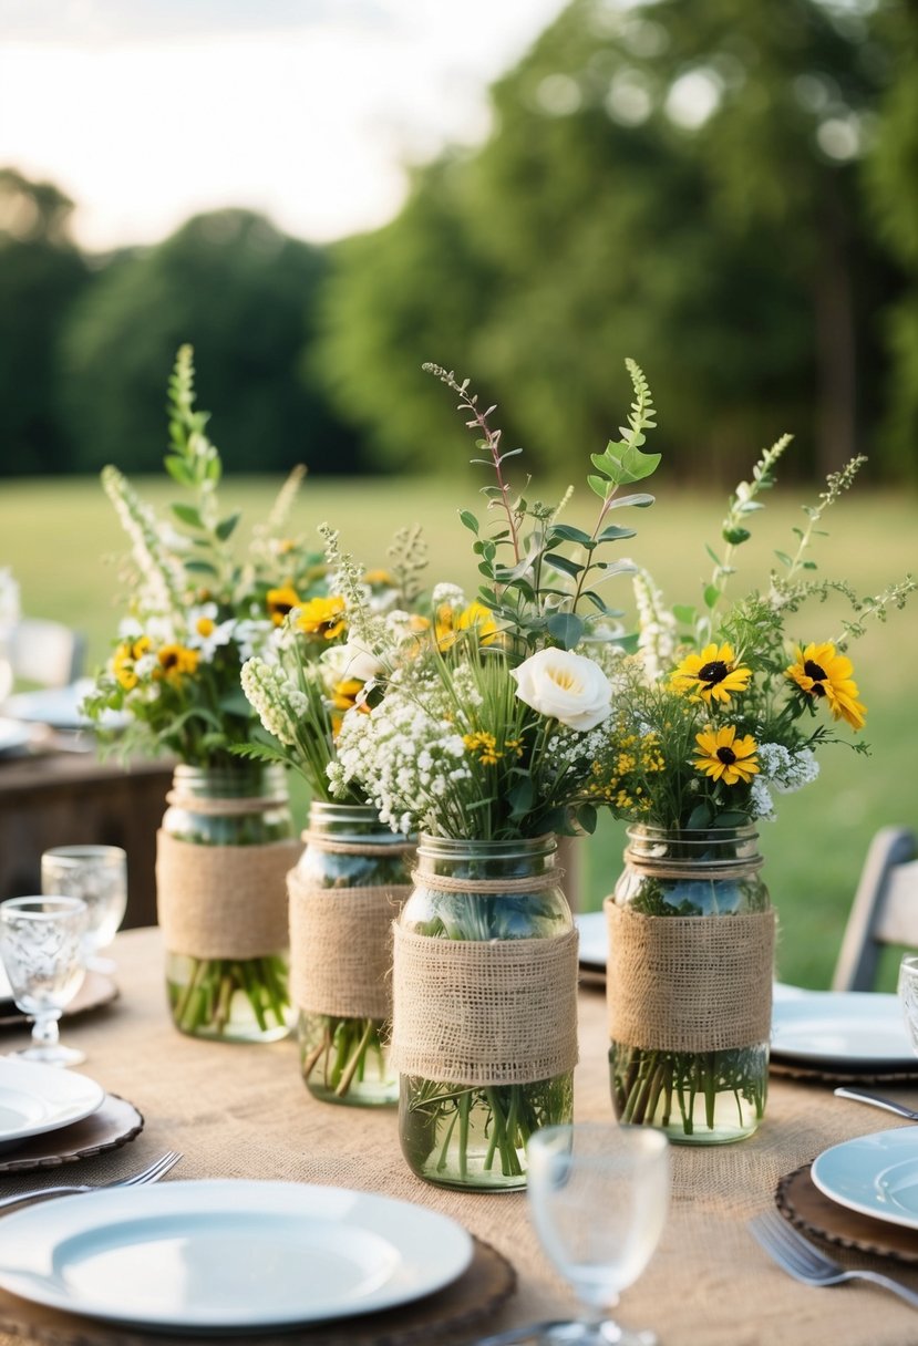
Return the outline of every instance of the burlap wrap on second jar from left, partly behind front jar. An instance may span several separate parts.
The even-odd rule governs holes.
[[[392,921],[411,886],[318,888],[291,871],[291,997],[300,1010],[392,1016]]]

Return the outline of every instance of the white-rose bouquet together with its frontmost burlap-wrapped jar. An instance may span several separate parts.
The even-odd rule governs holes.
[[[586,532],[564,522],[567,498],[549,506],[511,490],[506,467],[520,450],[501,448],[494,408],[479,408],[467,381],[425,369],[456,394],[478,435],[476,462],[493,472],[483,490],[493,521],[460,513],[485,584],[472,602],[437,586],[431,623],[394,647],[365,622],[381,695],[369,713],[345,715],[328,771],[337,795],[357,786],[392,828],[420,833],[417,886],[396,931],[405,1156],[432,1182],[513,1187],[525,1182],[529,1133],[571,1114],[576,937],[553,833],[595,825],[591,742],[612,711],[621,638],[602,586],[633,568],[602,553],[633,536],[612,511],[651,503],[622,489],[647,478],[660,455],[643,451],[654,413],[629,362],[634,402],[622,439],[592,456],[599,509]],[[507,1043],[518,1023],[493,1018],[509,995],[493,983],[505,975],[546,1005],[516,1049]],[[456,1005],[470,996],[479,1008],[447,1053]]]

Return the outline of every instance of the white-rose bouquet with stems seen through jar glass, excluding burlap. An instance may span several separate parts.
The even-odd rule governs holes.
[[[599,507],[586,532],[564,522],[567,497],[549,506],[511,489],[506,464],[520,450],[502,451],[501,431],[491,425],[495,408],[482,409],[468,381],[425,366],[456,394],[478,436],[475,462],[493,474],[483,490],[486,524],[460,513],[485,583],[471,602],[454,584],[437,586],[432,619],[396,641],[373,621],[359,592],[353,586],[346,591],[361,645],[380,669],[365,704],[343,716],[328,765],[335,797],[358,789],[394,830],[459,841],[540,839],[595,826],[591,744],[612,712],[614,642],[622,634],[621,614],[602,586],[633,569],[602,553],[634,536],[612,522],[619,517],[614,511],[653,502],[623,487],[650,476],[660,462],[658,454],[643,451],[654,424],[650,390],[639,367],[631,361],[627,367],[634,401],[621,440],[592,455],[588,485]],[[443,895],[437,914],[413,927],[419,934],[501,941],[564,933],[569,913],[560,913],[551,890],[522,892],[525,879],[510,894],[497,891],[499,883],[497,890],[481,884],[487,860],[475,855],[470,852],[467,879],[481,891],[471,902],[463,894]],[[402,1082],[402,1151],[433,1180],[454,1166],[460,1186],[514,1184],[525,1172],[528,1135],[568,1120],[569,1109],[564,1074],[489,1086],[409,1077]]]

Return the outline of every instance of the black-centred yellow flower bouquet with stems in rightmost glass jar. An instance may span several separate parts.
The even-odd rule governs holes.
[[[607,900],[614,957],[622,958],[621,966],[610,965],[612,1023],[630,1028],[630,1040],[612,1040],[614,1100],[622,1120],[662,1125],[678,1140],[738,1139],[755,1129],[762,1116],[770,954],[761,987],[762,1040],[747,1028],[742,1040],[752,1044],[736,1046],[736,1036],[724,1034],[730,1044],[720,1050],[678,1050],[668,1028],[660,1042],[669,1042],[669,1050],[634,1046],[641,1030],[637,1011],[629,1024],[627,940],[635,923],[622,921],[621,913],[746,915],[750,925],[756,917],[765,922],[769,899],[758,878],[754,824],[774,817],[775,795],[816,779],[816,752],[822,744],[864,728],[867,709],[848,646],[870,618],[883,621],[914,588],[907,577],[860,599],[848,583],[814,575],[812,544],[821,536],[826,510],[853,483],[864,462],[856,458],[828,478],[814,505],[805,506],[805,524],[794,529],[794,545],[775,553],[778,565],[765,590],[726,602],[736,549],[750,537],[750,521],[762,509],[759,497],[774,485],[774,468],[787,444],[785,436],[766,451],[752,479],[740,482],[731,497],[723,551],[708,548],[713,571],[699,607],[670,611],[651,577],[635,576],[638,649],[619,665],[614,712],[594,743],[588,797],[603,800],[631,824],[626,871]],[[806,599],[822,602],[833,594],[847,600],[851,616],[836,633],[813,630],[812,619],[801,615]],[[861,742],[852,746],[867,751]],[[724,923],[721,930],[728,938]],[[716,1000],[728,980],[723,958],[712,977]],[[732,1003],[719,1011],[724,1020],[742,1016],[744,997],[754,997],[748,980],[739,976],[730,989]],[[668,989],[672,995],[673,988]],[[695,1005],[707,991],[700,983],[686,984]],[[641,1016],[654,1019],[646,1000]]]

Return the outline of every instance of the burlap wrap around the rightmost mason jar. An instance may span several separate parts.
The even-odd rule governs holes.
[[[774,911],[653,917],[604,903],[608,1035],[629,1047],[721,1051],[771,1032]]]

